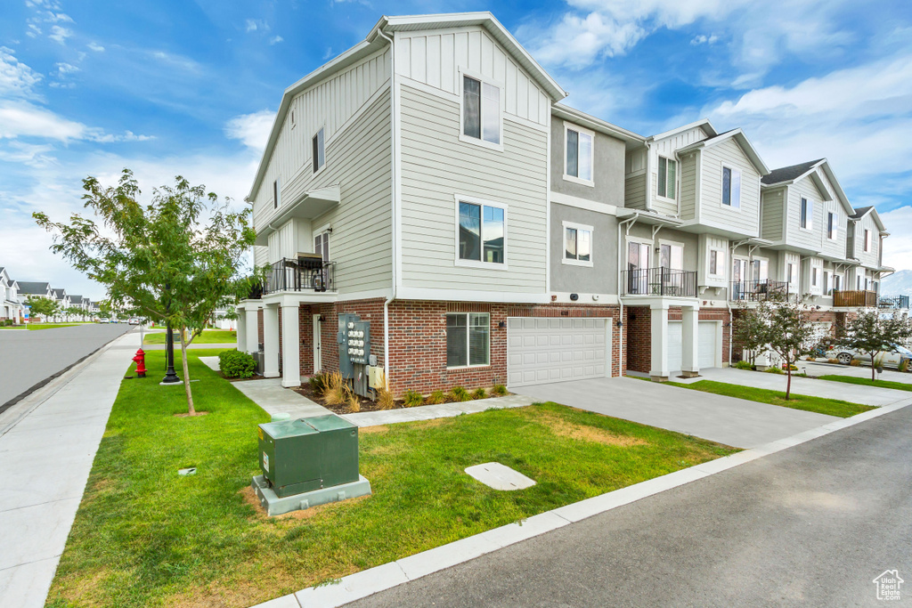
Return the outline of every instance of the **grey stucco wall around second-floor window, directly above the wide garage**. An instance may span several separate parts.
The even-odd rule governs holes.
[[[564,263],[564,222],[592,226],[592,266]],[[617,218],[551,203],[551,291],[617,294]]]

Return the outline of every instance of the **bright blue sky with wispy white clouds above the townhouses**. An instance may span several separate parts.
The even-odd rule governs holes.
[[[31,220],[80,180],[181,174],[241,201],[282,91],[380,15],[490,10],[570,93],[644,135],[708,117],[774,168],[830,159],[912,267],[912,5],[844,0],[96,2],[0,0],[0,265],[102,290]]]

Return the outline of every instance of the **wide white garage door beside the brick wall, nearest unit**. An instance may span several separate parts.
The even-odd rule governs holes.
[[[605,319],[508,318],[507,384],[609,376],[607,332]]]

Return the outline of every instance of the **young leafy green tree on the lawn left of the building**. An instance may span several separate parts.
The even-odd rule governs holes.
[[[141,311],[180,331],[184,389],[194,416],[187,346],[217,304],[250,288],[239,271],[255,239],[251,210],[234,212],[229,199],[220,202],[180,176],[173,187],[154,190],[148,205],[137,201],[140,188],[130,170],[123,170],[117,186],[88,177],[82,187],[85,206],[100,225],[78,214],[69,223],[51,222],[44,213],[34,217],[55,233],[52,251],[108,287],[109,308]]]

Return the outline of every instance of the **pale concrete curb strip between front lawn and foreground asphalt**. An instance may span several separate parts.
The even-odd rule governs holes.
[[[793,448],[843,428],[854,427],[872,418],[884,416],[910,405],[912,405],[912,398],[892,405],[877,407],[850,418],[839,419],[823,427],[803,431],[792,437],[777,439],[757,448],[746,449],[731,456],[710,460],[688,469],[681,469],[662,477],[627,486],[627,488],[616,489],[591,499],[580,500],[564,507],[545,511],[527,520],[507,524],[429,551],[409,555],[396,562],[349,574],[329,584],[308,587],[296,593],[283,595],[275,600],[257,604],[253,608],[336,608],[336,606],[355,602],[374,593],[392,589],[403,582],[415,581],[433,572],[440,572],[460,563],[469,562],[486,553],[529,540],[545,532],[557,530],[569,523],[617,509],[617,507],[654,496],[667,489],[678,488],[691,481],[733,469],[752,460],[762,459],[764,456],[775,454],[783,449]]]

